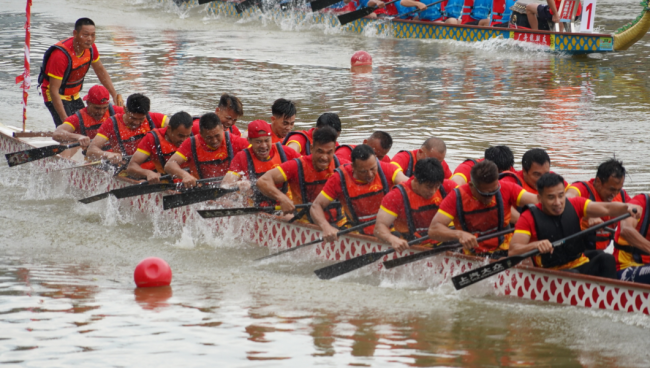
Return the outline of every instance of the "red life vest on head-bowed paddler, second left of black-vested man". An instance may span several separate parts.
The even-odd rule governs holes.
[[[413,191],[411,186],[396,185],[402,193],[404,213],[406,216],[397,217],[393,226],[402,236],[411,240],[426,235],[431,220],[438,213],[440,203],[447,196],[447,192],[440,185],[440,189],[429,199],[422,198]]]

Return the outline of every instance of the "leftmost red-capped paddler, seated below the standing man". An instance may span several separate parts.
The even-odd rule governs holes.
[[[110,97],[104,86],[92,86],[84,97],[86,107],[65,119],[54,131],[52,139],[61,143],[79,142],[82,149],[88,149],[102,123],[115,114],[124,113],[122,107],[109,102]]]

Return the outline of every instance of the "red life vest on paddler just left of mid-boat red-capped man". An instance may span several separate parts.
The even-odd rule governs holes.
[[[224,132],[221,145],[214,151],[206,150],[202,145],[196,144],[196,136],[190,137],[192,148],[192,162],[190,173],[199,179],[215,178],[228,172],[230,161],[235,153],[230,141],[230,133]]]

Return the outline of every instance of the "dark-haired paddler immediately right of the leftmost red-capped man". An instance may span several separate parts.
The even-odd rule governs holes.
[[[138,143],[147,132],[165,126],[167,116],[149,112],[149,97],[135,93],[126,99],[123,114],[116,114],[99,127],[88,153],[90,159],[107,159],[117,164],[123,156],[133,155]],[[104,152],[102,147],[110,143],[112,152]]]

